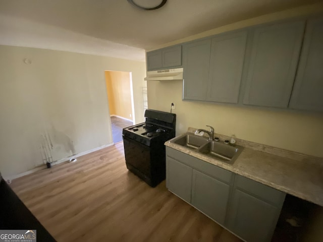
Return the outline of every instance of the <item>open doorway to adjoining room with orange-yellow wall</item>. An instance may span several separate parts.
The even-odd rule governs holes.
[[[113,143],[122,141],[122,129],[134,124],[132,76],[130,72],[105,71]]]

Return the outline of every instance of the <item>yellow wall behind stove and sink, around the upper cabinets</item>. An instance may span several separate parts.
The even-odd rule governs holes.
[[[311,7],[310,10],[315,13],[316,8]],[[308,7],[298,8],[297,11],[285,11],[245,20],[214,29],[209,33],[229,31],[233,26],[242,27],[246,23],[255,25],[311,12],[308,11]],[[220,134],[229,136],[234,134],[240,139],[323,157],[322,113],[182,101],[182,81],[147,82],[147,88],[149,108],[169,111],[171,103],[176,103],[173,112],[177,114],[177,135],[186,132],[188,127],[205,129],[207,128],[205,125],[210,125]]]

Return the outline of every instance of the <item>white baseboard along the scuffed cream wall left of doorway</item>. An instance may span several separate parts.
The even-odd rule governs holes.
[[[77,157],[80,157],[82,155],[87,155],[89,153],[92,153],[94,151],[97,151],[97,150],[100,150],[100,149],[103,149],[103,148],[106,148],[106,147],[109,147],[109,146],[112,146],[112,145],[114,145],[114,144],[112,143],[112,144],[108,144],[108,145],[102,145],[100,147],[97,147],[97,148],[94,148],[94,149],[91,149],[91,150],[87,150],[87,151],[81,152],[81,153],[76,154],[76,155],[72,155],[72,156],[57,160],[57,161],[53,161],[53,162],[51,162],[51,165],[58,165],[60,163],[68,161],[68,160],[70,160],[72,158],[77,158]],[[29,175],[31,173],[34,173],[34,172],[38,171],[38,170],[42,170],[42,169],[46,169],[46,168],[47,168],[46,164],[43,164],[43,165],[37,166],[37,167],[35,167],[35,168],[31,169],[31,170],[25,171],[23,173],[20,173],[20,174],[17,174],[17,175],[10,175],[10,176],[6,176],[6,177],[3,176],[3,178],[5,180],[7,180],[7,181],[8,180],[12,181],[13,179],[16,179],[18,177],[21,177],[21,176],[24,176],[24,175]]]

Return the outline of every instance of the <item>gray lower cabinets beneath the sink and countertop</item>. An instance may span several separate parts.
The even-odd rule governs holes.
[[[286,195],[169,147],[166,186],[247,242],[271,240]]]

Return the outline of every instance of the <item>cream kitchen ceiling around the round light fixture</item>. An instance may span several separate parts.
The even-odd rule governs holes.
[[[144,49],[318,2],[168,0],[161,9],[143,11],[127,0],[0,0],[0,44],[144,61]]]

